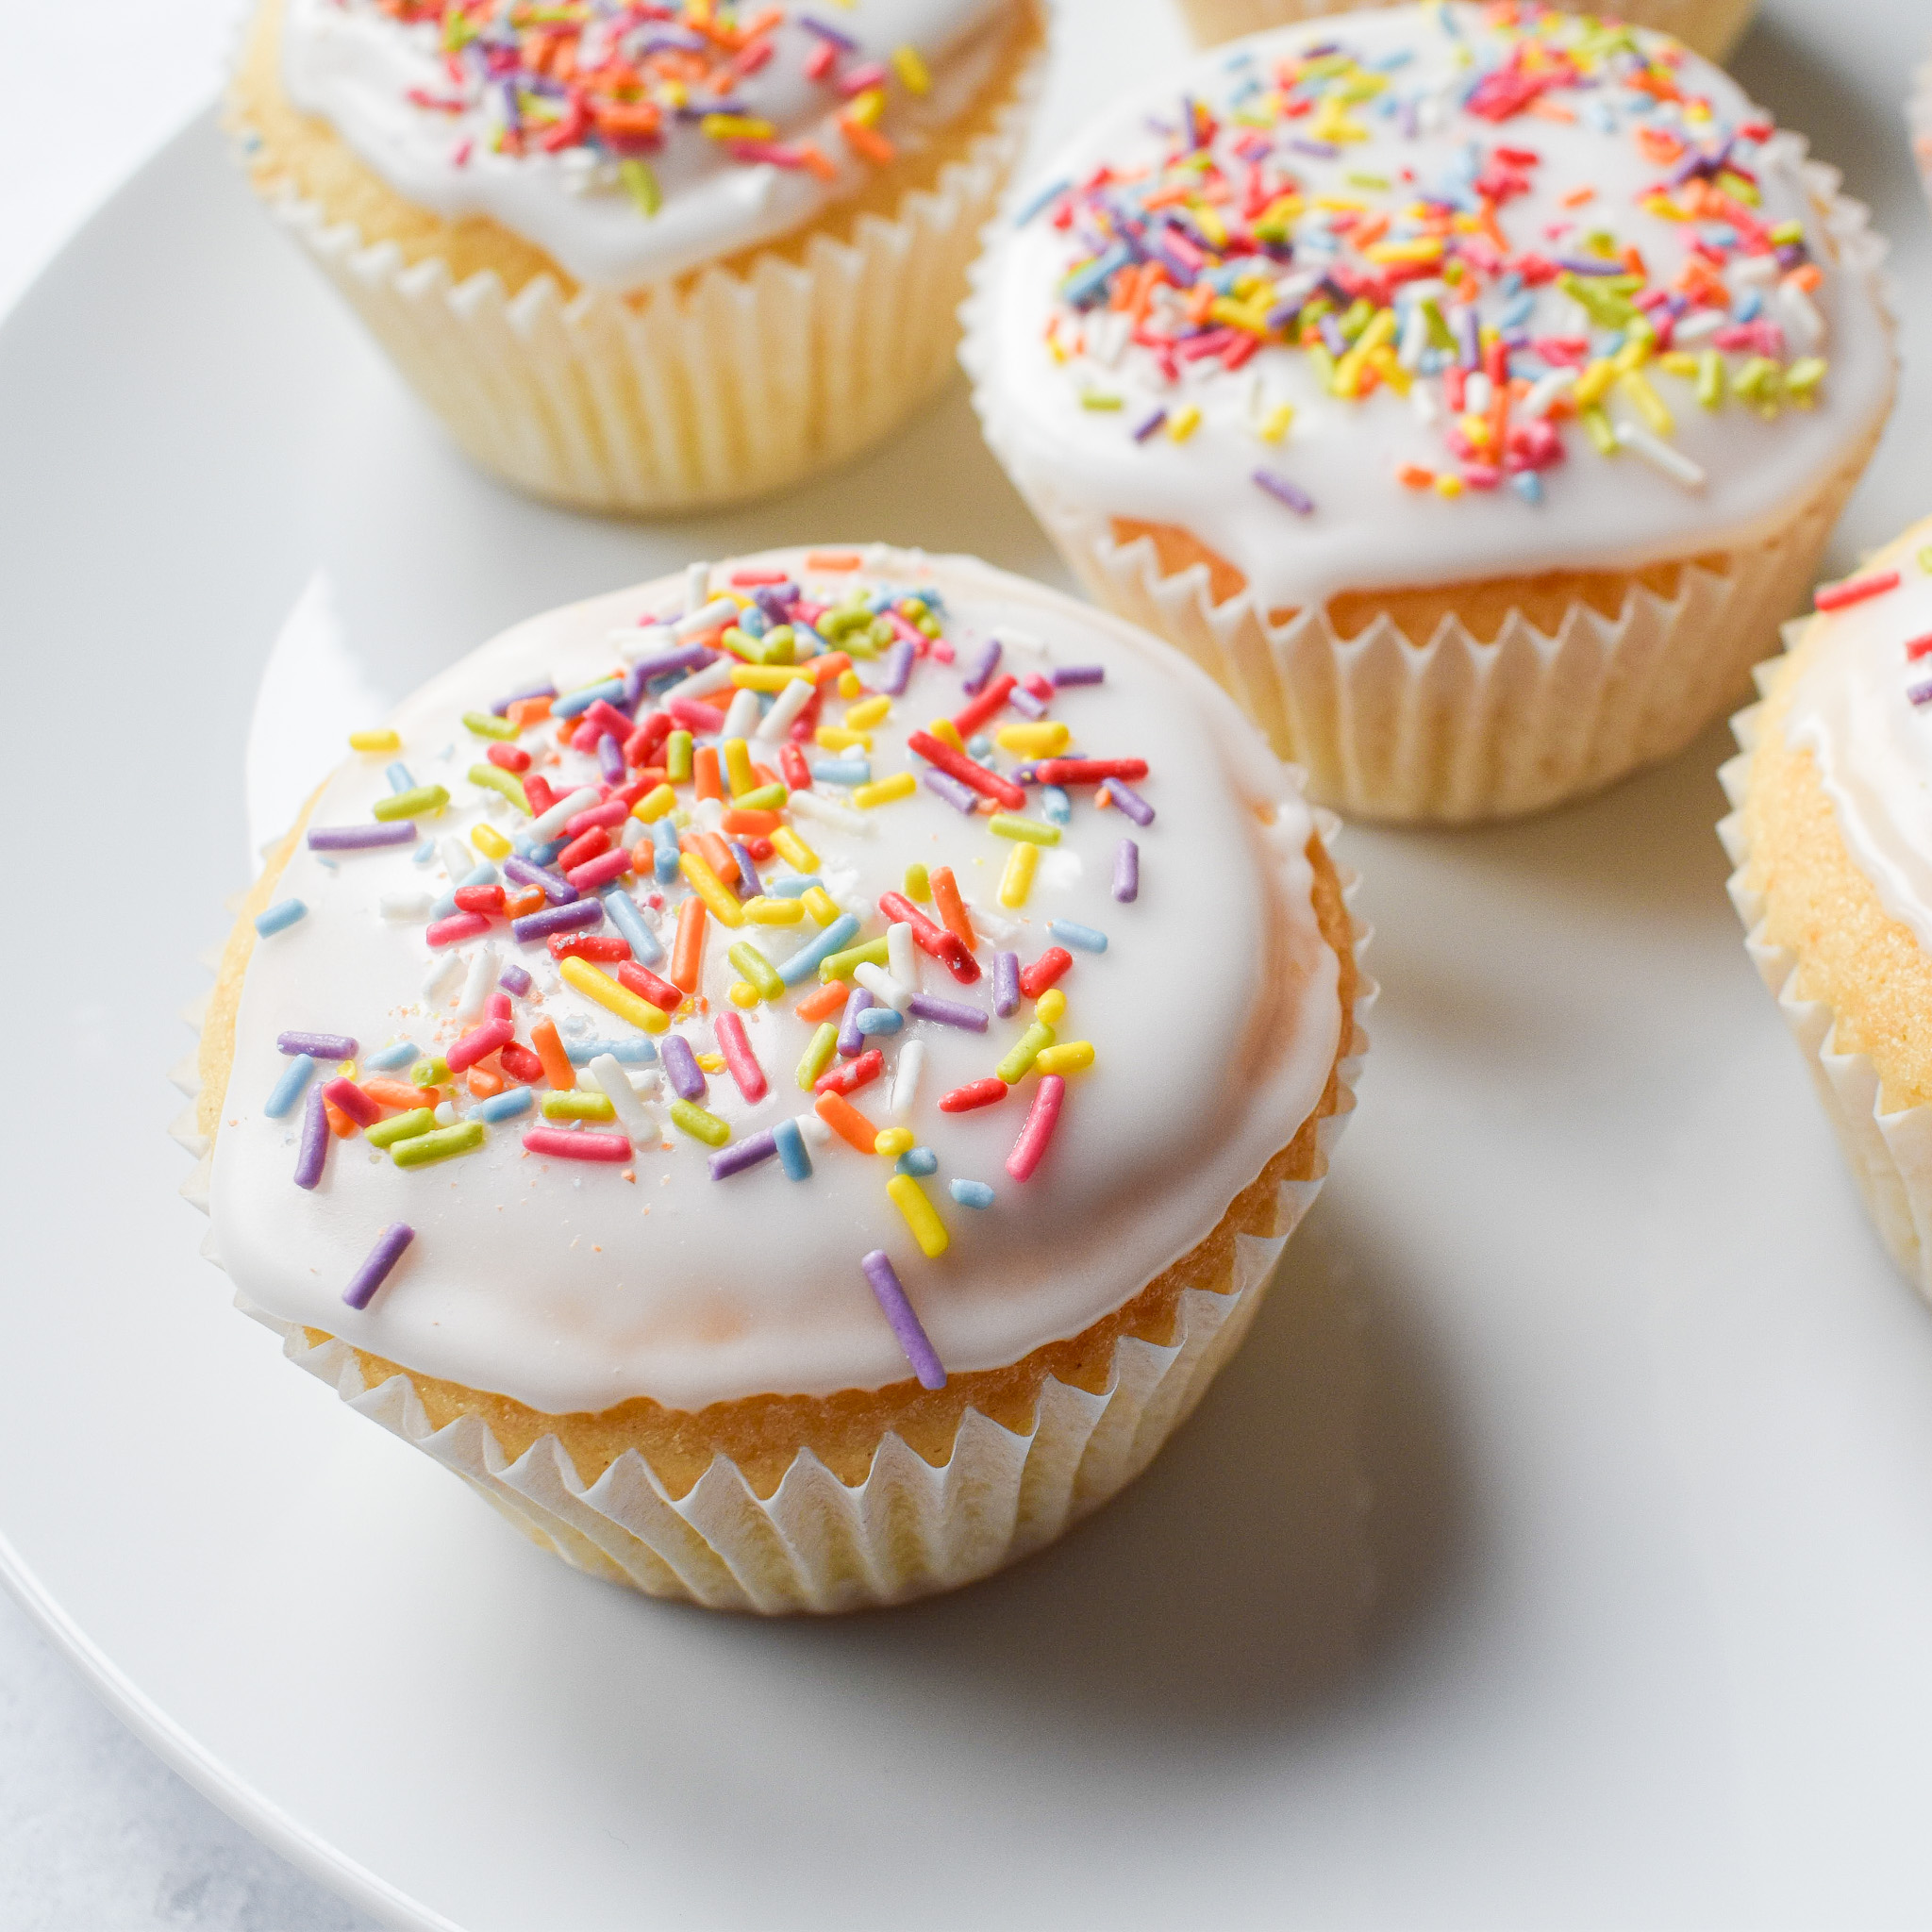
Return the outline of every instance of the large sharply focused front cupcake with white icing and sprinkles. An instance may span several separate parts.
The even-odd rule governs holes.
[[[777,551],[354,742],[199,1051],[211,1252],[294,1360],[566,1561],[734,1609],[968,1582],[1146,1466],[1370,997],[1206,676],[970,558]]]

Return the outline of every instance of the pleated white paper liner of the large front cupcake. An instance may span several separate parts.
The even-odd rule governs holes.
[[[1335,821],[1318,813],[1331,840]],[[1354,896],[1356,879],[1341,871]],[[1350,914],[1360,966],[1368,927]],[[207,962],[211,970],[220,954]],[[415,1443],[454,1470],[533,1542],[566,1563],[649,1596],[684,1598],[713,1609],[840,1611],[900,1604],[952,1590],[1053,1542],[1138,1476],[1163,1441],[1192,1414],[1208,1383],[1240,1347],[1267,1293],[1289,1235],[1321,1192],[1329,1157],[1349,1115],[1368,1034],[1362,1018],[1376,983],[1358,974],[1354,1032],[1337,1063],[1337,1109],[1316,1126],[1316,1173],[1279,1188],[1275,1225],[1262,1238],[1235,1236],[1227,1273],[1184,1289],[1173,1341],[1115,1343],[1099,1393],[1047,1378],[1034,1424],[1014,1432],[968,1408],[947,1461],[927,1463],[887,1434],[867,1478],[840,1482],[810,1449],[800,1451],[777,1490],[759,1497],[740,1468],[717,1457],[672,1497],[636,1451],[585,1484],[554,1435],[510,1457],[477,1416],[437,1430],[402,1374],[371,1387],[361,1358],[342,1341],[311,1345],[309,1331],[255,1308],[236,1306],[282,1335],[282,1352],[328,1381],[348,1406]],[[207,1001],[185,1014],[199,1030]],[[172,1080],[193,1095],[201,1080],[191,1055]],[[195,1155],[182,1194],[209,1209],[213,1148],[189,1107],[170,1128]],[[213,1231],[201,1252],[220,1265]]]

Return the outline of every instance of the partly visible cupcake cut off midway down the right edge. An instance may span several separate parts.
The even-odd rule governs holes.
[[[1719,833],[1750,956],[1899,1271],[1932,1298],[1932,518],[1760,674]]]

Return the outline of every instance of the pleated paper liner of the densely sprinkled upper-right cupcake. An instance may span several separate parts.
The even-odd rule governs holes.
[[[1830,209],[1847,270],[1876,276],[1886,243],[1864,205],[1839,195],[1837,170],[1822,162],[1804,162],[1804,180]],[[1777,531],[1727,553],[1721,574],[1679,558],[1673,597],[1633,576],[1617,616],[1578,601],[1553,634],[1513,611],[1492,643],[1453,616],[1420,647],[1387,616],[1343,638],[1318,603],[1285,624],[1246,589],[1217,605],[1206,564],[1165,576],[1151,537],[1115,543],[1109,506],[1066,502],[1030,469],[985,383],[987,272],[985,261],[974,270],[960,361],[987,444],[1068,570],[1095,603],[1186,651],[1277,755],[1308,771],[1310,796],[1350,817],[1517,817],[1681,752],[1776,647],[1884,427]],[[1194,535],[1213,545],[1211,529]]]

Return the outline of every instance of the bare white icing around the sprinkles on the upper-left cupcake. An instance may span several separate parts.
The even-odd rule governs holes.
[[[923,58],[931,91],[914,95],[891,79],[879,129],[916,151],[974,104],[1018,14],[1010,0],[827,0],[819,17],[858,43],[840,56],[844,68],[902,46]],[[678,31],[639,21],[622,39],[641,46]],[[609,160],[591,166],[582,149],[498,153],[500,87],[473,64],[452,79],[435,21],[400,23],[375,0],[282,0],[282,85],[298,108],[327,120],[404,199],[444,220],[487,214],[591,288],[643,288],[771,242],[864,184],[867,164],[837,126],[848,102],[829,79],[802,71],[821,41],[788,17],[771,43],[773,58],[711,104],[771,122],[781,143],[815,143],[835,174],[746,164],[694,120],[667,118],[663,143],[641,155],[663,193],[645,216]],[[423,106],[423,97],[458,106]]]

